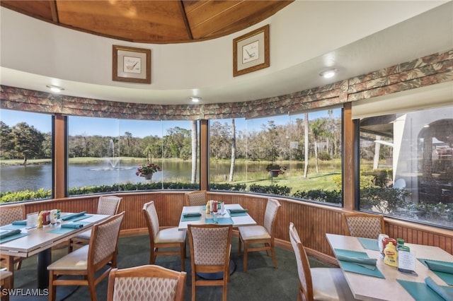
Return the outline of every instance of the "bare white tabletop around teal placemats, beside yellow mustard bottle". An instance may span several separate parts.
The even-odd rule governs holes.
[[[333,250],[348,249],[351,251],[365,252],[369,258],[377,259],[376,266],[384,275],[385,279],[343,270],[343,274],[345,275],[346,281],[348,281],[352,295],[354,295],[357,300],[414,300],[396,279],[424,283],[425,278],[430,276],[435,283],[447,285],[418,260],[415,261],[415,272],[418,273],[418,276],[412,276],[400,273],[396,268],[384,264],[384,260],[381,258],[379,251],[365,249],[357,240],[357,237],[335,234],[326,234],[326,237]],[[415,258],[453,262],[453,255],[440,249],[440,247],[407,243],[405,245],[411,248],[411,252],[415,252]]]

